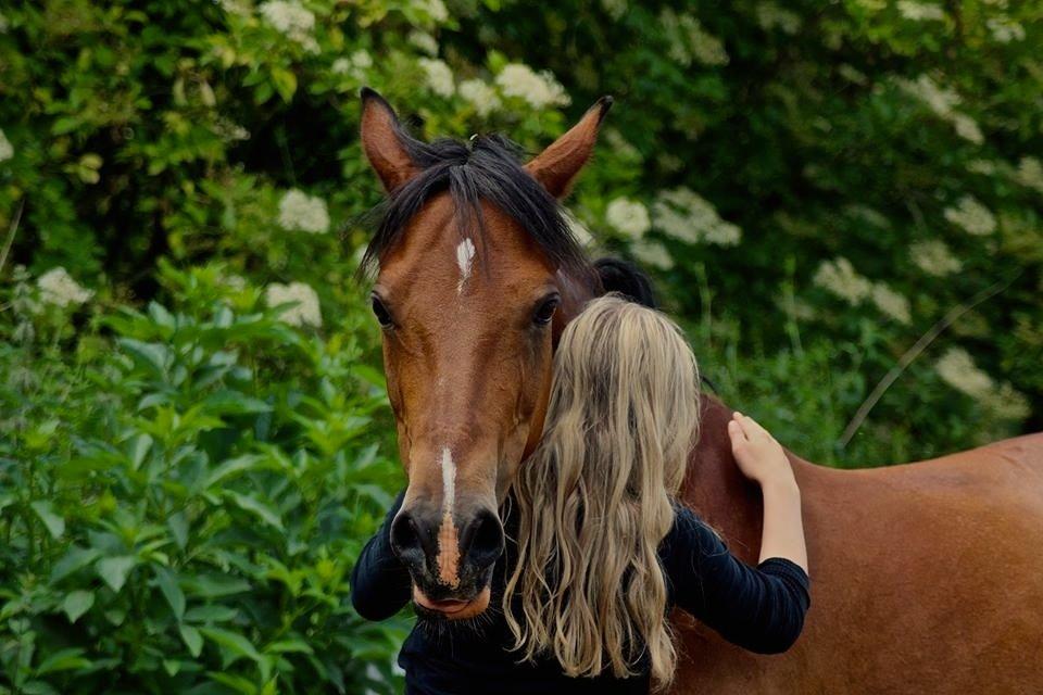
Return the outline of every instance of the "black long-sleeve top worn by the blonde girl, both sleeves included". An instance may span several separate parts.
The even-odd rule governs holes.
[[[400,494],[384,526],[363,548],[351,574],[351,599],[368,620],[397,614],[412,595],[410,573],[391,551],[391,521]],[[810,605],[807,574],[794,563],[774,557],[756,568],[737,559],[721,540],[690,509],[676,506],[674,527],[658,548],[667,579],[668,606],[679,606],[729,642],[761,654],[784,652],[796,641]],[[518,664],[513,637],[500,610],[507,570],[517,558],[511,541],[516,518],[504,519],[507,547],[492,577],[487,621],[478,629],[418,623],[399,655],[410,695],[478,695],[486,693],[554,693],[598,695],[645,694],[643,673],[617,679],[569,678],[553,658]],[[442,629],[440,629],[442,628]]]

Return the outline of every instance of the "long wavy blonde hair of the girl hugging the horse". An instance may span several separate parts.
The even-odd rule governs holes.
[[[698,427],[698,367],[676,324],[610,295],[568,325],[543,441],[514,483],[518,561],[503,603],[523,660],[626,678],[646,654],[656,687],[671,681],[657,549]]]

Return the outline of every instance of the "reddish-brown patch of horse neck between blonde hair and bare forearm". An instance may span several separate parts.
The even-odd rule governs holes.
[[[731,454],[728,420],[732,410],[713,396],[700,397],[699,443],[689,455],[681,498],[737,555],[754,561],[763,523],[761,491],[743,477]]]

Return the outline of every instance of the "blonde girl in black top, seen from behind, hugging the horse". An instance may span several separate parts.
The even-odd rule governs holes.
[[[677,660],[673,606],[747,649],[789,648],[810,603],[793,471],[771,435],[736,413],[736,463],[764,496],[761,564],[749,567],[676,501],[699,402],[695,358],[673,321],[615,296],[592,301],[562,334],[542,443],[504,506],[515,540],[493,572],[502,612],[418,624],[399,657],[406,692],[662,688]],[[388,541],[401,498],[352,573],[363,617],[410,599]]]

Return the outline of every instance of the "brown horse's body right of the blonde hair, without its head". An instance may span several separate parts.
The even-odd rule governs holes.
[[[684,501],[754,564],[761,500],[705,399]],[[1043,692],[1043,433],[887,468],[791,455],[812,577],[804,633],[759,656],[675,616],[671,693]]]

